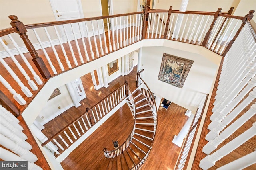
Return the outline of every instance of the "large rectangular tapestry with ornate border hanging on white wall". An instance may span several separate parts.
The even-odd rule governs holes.
[[[182,88],[194,61],[164,53],[158,80]]]

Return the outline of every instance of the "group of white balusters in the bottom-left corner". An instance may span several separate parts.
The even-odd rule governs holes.
[[[19,125],[19,120],[0,105],[0,158],[2,160],[28,161],[29,169],[41,169],[34,164],[37,156],[30,152],[32,146],[26,141],[28,138]],[[7,150],[8,149],[8,150]]]

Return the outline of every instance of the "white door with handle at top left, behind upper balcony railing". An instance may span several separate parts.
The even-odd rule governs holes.
[[[75,20],[79,18],[84,18],[80,0],[50,0],[50,4],[52,6],[52,10],[57,21]],[[83,27],[83,24],[81,24],[80,26]],[[72,27],[74,29],[76,38],[81,38],[78,23],[72,23],[72,27],[70,24],[66,24],[64,25],[64,27],[66,29],[66,33],[70,41],[74,40]],[[63,26],[60,25],[59,29],[60,29],[62,38],[65,39]]]

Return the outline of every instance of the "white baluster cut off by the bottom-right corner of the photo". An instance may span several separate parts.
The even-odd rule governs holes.
[[[233,162],[230,162],[217,170],[227,170],[227,169],[236,169],[236,170],[242,170],[246,167],[255,164],[256,163],[256,151],[247,154],[246,156],[243,156],[237,160],[234,160]]]

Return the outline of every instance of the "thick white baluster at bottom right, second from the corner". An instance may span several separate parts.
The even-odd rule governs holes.
[[[211,155],[206,156],[204,159],[200,161],[199,167],[203,170],[206,170],[208,168],[211,168],[215,165],[216,161],[223,158],[223,156],[226,156],[236,148],[238,148],[240,145],[248,141],[250,138],[252,138],[254,135],[256,135],[256,123],[254,122],[252,127],[233,139],[232,141],[228,142],[226,145],[221,147],[219,150],[214,152]]]

